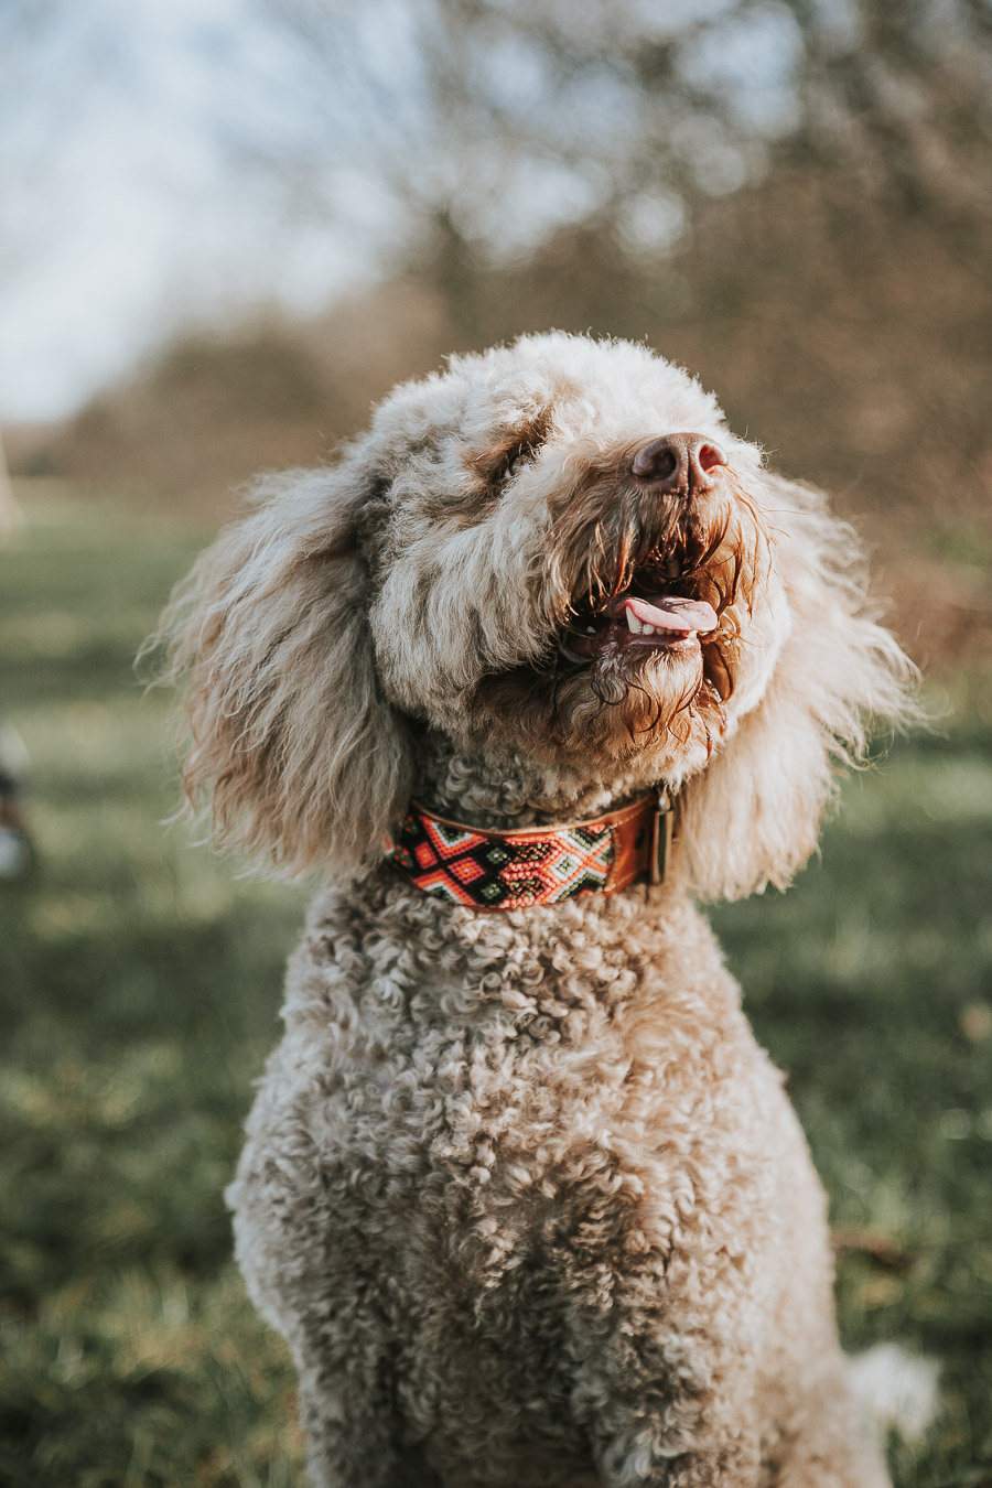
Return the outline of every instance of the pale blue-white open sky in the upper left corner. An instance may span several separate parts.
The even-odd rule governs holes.
[[[186,320],[306,311],[367,275],[360,238],[232,173],[238,121],[286,128],[289,67],[250,0],[67,0],[24,48],[0,113],[0,420],[70,412]]]

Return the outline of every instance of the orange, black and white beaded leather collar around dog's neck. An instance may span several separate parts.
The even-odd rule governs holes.
[[[614,894],[638,878],[660,884],[671,841],[672,802],[663,787],[592,821],[516,832],[482,832],[410,802],[388,859],[437,899],[468,909],[529,909]]]

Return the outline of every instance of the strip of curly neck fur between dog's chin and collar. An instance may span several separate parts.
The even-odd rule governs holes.
[[[637,771],[590,783],[568,768],[541,766],[515,750],[486,751],[483,757],[428,729],[418,740],[413,796],[430,811],[467,826],[507,830],[595,817],[651,783]]]

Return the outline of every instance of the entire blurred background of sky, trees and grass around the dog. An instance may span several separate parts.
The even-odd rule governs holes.
[[[846,1345],[941,1366],[895,1482],[992,1484],[991,147],[989,0],[0,0],[0,1482],[302,1482],[222,1190],[305,896],[162,826],[131,664],[239,482],[558,326],[831,490],[924,667],[712,918]]]

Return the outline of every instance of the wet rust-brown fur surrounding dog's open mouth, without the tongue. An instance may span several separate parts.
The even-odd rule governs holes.
[[[547,653],[510,677],[483,679],[480,698],[526,701],[561,745],[570,734],[608,723],[631,744],[638,735],[684,735],[699,720],[721,732],[735,687],[735,659],[753,606],[767,583],[770,539],[733,472],[686,498],[657,496],[616,469],[589,470],[562,498],[546,543]],[[717,629],[689,655],[617,646],[583,653],[590,622],[628,591],[703,600]],[[528,676],[529,674],[529,676]],[[529,683],[529,684],[528,684]],[[590,705],[590,698],[592,705]]]

